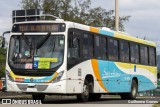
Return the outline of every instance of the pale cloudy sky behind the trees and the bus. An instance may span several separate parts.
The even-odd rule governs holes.
[[[115,0],[91,0],[93,7],[115,9]],[[12,26],[12,10],[21,9],[21,0],[0,0],[0,35]],[[125,32],[157,44],[160,54],[160,2],[159,0],[119,0],[119,16],[131,16],[124,23]]]

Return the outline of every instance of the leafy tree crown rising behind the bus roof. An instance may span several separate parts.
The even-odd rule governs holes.
[[[22,9],[42,9],[44,14],[52,14],[67,21],[115,29],[114,10],[92,8],[91,0],[22,0],[21,5]],[[120,31],[124,31],[124,22],[129,21],[129,18],[119,18]]]

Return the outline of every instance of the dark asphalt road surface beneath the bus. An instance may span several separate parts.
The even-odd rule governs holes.
[[[12,101],[18,101],[18,100],[32,100],[31,96],[10,96],[10,97],[4,97],[0,98],[0,104],[2,104],[2,100],[4,99],[11,99]],[[157,97],[148,97],[148,98],[140,98],[138,97],[136,100],[122,100],[120,97],[111,97],[111,96],[102,96],[102,98],[99,101],[90,101],[90,102],[79,102],[77,101],[76,97],[74,96],[66,96],[66,97],[55,97],[55,96],[47,96],[43,102],[43,104],[160,104],[160,98]]]

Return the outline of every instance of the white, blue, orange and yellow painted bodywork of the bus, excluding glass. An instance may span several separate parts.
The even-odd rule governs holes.
[[[22,23],[22,22],[21,22]],[[38,22],[35,22],[38,23]],[[48,22],[51,23],[51,22]],[[57,23],[57,22],[52,22]],[[63,22],[64,23],[64,22]],[[73,22],[65,22],[66,31],[61,33],[65,35],[64,62],[62,66],[52,76],[32,77],[14,75],[8,65],[8,57],[6,61],[6,72],[11,73],[11,77],[23,78],[24,82],[12,82],[10,77],[6,75],[7,91],[12,92],[28,92],[28,93],[53,93],[53,94],[80,94],[83,92],[83,84],[87,75],[93,76],[94,93],[124,93],[130,92],[133,78],[138,80],[138,91],[146,91],[157,87],[157,70],[155,66],[147,66],[132,63],[114,62],[108,60],[88,59],[80,62],[67,70],[67,45],[68,45],[68,29],[76,28],[105,36],[131,40],[134,37],[126,37],[124,34],[115,33],[113,31],[99,30],[86,25]],[[115,34],[114,34],[115,33]],[[32,33],[34,34],[34,33]],[[56,34],[56,33],[53,33]],[[59,33],[57,33],[59,34]],[[11,33],[12,35],[12,33]],[[19,34],[20,35],[20,34]],[[155,46],[154,43],[145,40],[133,39],[142,44]],[[133,41],[132,40],[132,41]],[[8,55],[8,51],[7,51]],[[59,72],[64,74],[59,82],[53,82]],[[46,81],[29,82],[33,78]],[[44,79],[45,80],[45,79]],[[27,86],[26,86],[27,85]],[[38,88],[37,88],[38,87]],[[43,88],[39,88],[43,87]],[[25,89],[25,90],[24,90]]]

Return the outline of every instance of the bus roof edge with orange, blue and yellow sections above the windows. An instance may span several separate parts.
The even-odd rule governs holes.
[[[156,46],[156,44],[154,42],[143,40],[140,38],[136,38],[136,37],[131,36],[127,33],[116,32],[116,31],[110,30],[109,28],[97,28],[97,27],[87,26],[87,25],[83,25],[83,24],[79,24],[79,23],[75,23],[75,22],[70,22],[70,21],[63,21],[63,20],[27,21],[27,22],[18,22],[15,24],[22,24],[22,23],[66,23],[66,25],[73,25],[73,26],[70,26],[73,28],[90,31],[93,33],[103,34],[106,36],[115,37],[115,38],[119,38],[119,39],[123,39],[123,40],[133,41],[136,43],[141,43],[141,44],[145,44],[145,45],[149,45],[149,46],[154,46],[154,47]]]

